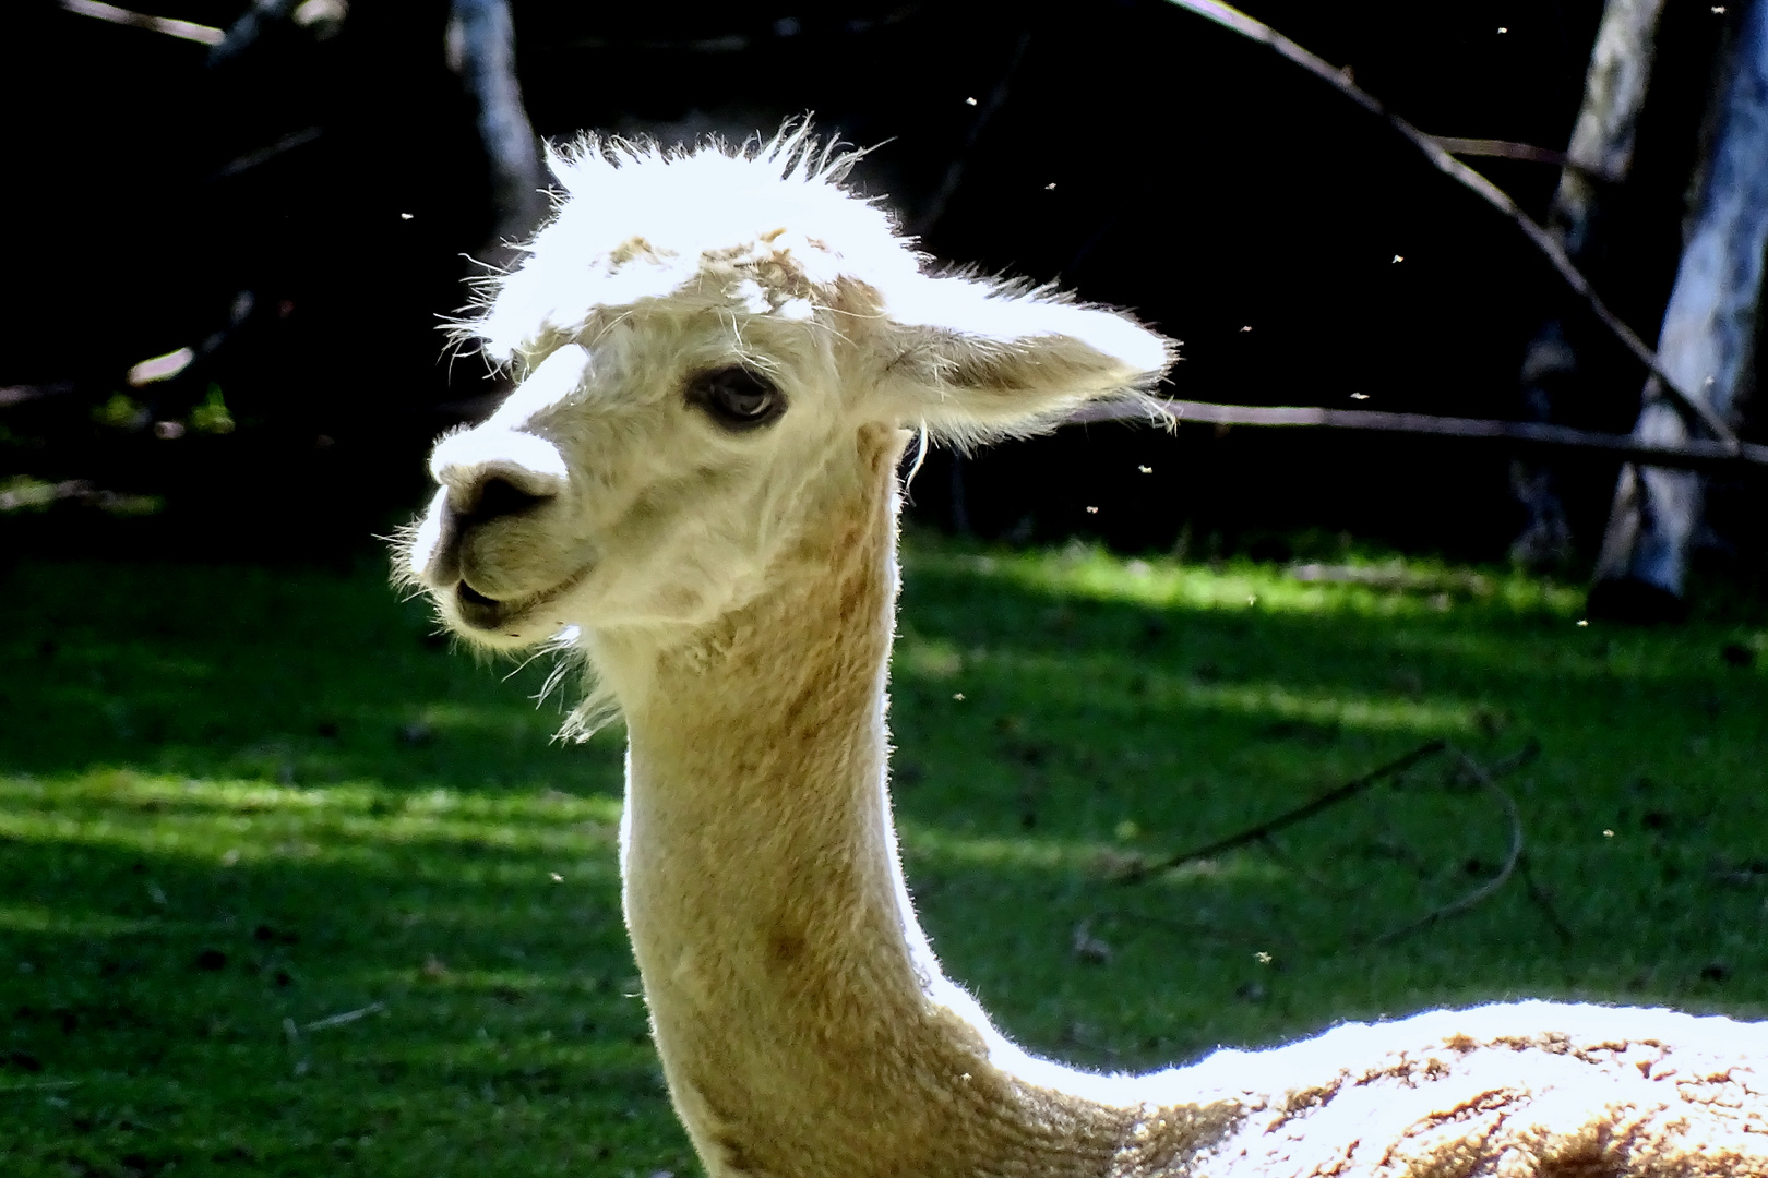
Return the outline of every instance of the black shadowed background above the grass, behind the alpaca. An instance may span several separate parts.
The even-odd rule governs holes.
[[[932,253],[1061,279],[1185,341],[1172,396],[1517,417],[1522,346],[1566,313],[1591,378],[1561,420],[1632,427],[1642,373],[1513,226],[1321,81],[1160,0],[513,7],[539,134],[741,138],[815,111],[852,143],[884,143],[857,180]],[[150,11],[226,26],[242,9]],[[1563,148],[1602,5],[1245,9],[1427,132]],[[361,0],[332,39],[285,23],[216,69],[202,44],[50,0],[11,19],[0,385],[65,390],[0,410],[0,479],[83,479],[164,507],[12,512],[5,551],[354,560],[415,510],[428,440],[488,387],[476,360],[444,362],[437,330],[492,224],[447,5]],[[1634,178],[1609,194],[1611,247],[1589,267],[1646,339],[1727,19],[1671,0]],[[295,145],[262,155],[278,143]],[[1556,168],[1473,162],[1545,214]],[[205,341],[179,378],[131,392],[150,419],[179,419],[219,387],[233,433],[161,440],[92,419],[131,364]],[[912,510],[1126,551],[1183,535],[1193,555],[1285,556],[1314,530],[1499,560],[1522,523],[1510,457],[1452,440],[1071,427],[965,459],[958,477],[935,454]],[[1614,463],[1563,468],[1589,558]],[[1715,489],[1708,563],[1754,576],[1759,505],[1756,487]]]

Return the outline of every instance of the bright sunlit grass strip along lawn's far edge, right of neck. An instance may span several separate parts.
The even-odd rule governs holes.
[[[1520,572],[1471,572],[1434,560],[1391,558],[1292,567],[1232,560],[1220,565],[1172,558],[1119,558],[1100,546],[1059,549],[946,551],[911,542],[905,567],[1004,579],[1052,595],[1130,600],[1167,609],[1268,609],[1430,616],[1478,600],[1508,613],[1575,616],[1582,592]]]

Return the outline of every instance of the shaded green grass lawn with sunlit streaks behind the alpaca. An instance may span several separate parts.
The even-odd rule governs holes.
[[[914,537],[896,798],[948,970],[1121,1069],[1522,994],[1768,1016],[1761,625],[1354,576]],[[451,655],[378,569],[0,588],[0,1173],[698,1173],[621,927],[621,738],[550,744],[545,668]],[[1432,736],[1540,744],[1503,784],[1554,917],[1512,880],[1383,940],[1505,858],[1446,761],[1116,881]]]

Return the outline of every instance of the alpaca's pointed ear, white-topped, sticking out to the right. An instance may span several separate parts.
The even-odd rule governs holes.
[[[918,276],[891,291],[882,389],[903,422],[979,442],[1036,433],[1086,401],[1146,396],[1172,344],[1050,288]]]

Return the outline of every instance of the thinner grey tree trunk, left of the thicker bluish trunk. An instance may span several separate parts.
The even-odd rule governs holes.
[[[1584,74],[1566,164],[1549,212],[1549,230],[1579,268],[1597,254],[1602,184],[1619,184],[1634,162],[1634,132],[1651,79],[1651,58],[1664,0],[1609,0]],[[1563,389],[1577,380],[1577,350],[1559,318],[1547,320],[1522,359],[1522,406],[1536,422],[1554,420]],[[1559,502],[1554,468],[1517,461],[1510,484],[1529,514],[1510,555],[1528,567],[1563,563],[1572,555],[1572,530]]]

